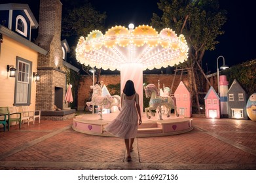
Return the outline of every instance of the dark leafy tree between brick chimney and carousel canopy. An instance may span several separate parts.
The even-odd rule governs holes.
[[[62,11],[62,37],[71,42],[71,53],[68,54],[69,62],[73,65],[80,66],[82,71],[87,73],[92,78],[92,73],[90,73],[90,67],[81,63],[77,63],[75,58],[75,48],[79,37],[87,37],[90,31],[94,29],[104,30],[105,18],[107,18],[106,13],[100,13],[95,10],[92,5],[84,0],[63,0],[63,11]],[[100,69],[97,69],[97,80],[99,81]],[[74,95],[77,96],[77,88],[80,86],[81,75],[77,75],[75,72],[69,73],[69,79],[73,83]],[[93,80],[93,78],[92,78]],[[75,103],[76,104],[76,103]]]

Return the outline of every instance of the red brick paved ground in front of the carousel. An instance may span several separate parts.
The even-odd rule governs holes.
[[[256,169],[256,122],[193,118],[189,133],[139,137],[132,162],[123,139],[86,135],[71,120],[0,132],[0,169]]]

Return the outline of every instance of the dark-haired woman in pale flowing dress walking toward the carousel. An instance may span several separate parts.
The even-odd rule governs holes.
[[[121,112],[111,124],[105,127],[105,130],[124,139],[127,151],[126,161],[132,161],[130,152],[133,150],[132,144],[137,135],[137,121],[139,116],[139,125],[141,124],[141,112],[139,107],[139,95],[134,88],[134,82],[127,80],[121,95]]]

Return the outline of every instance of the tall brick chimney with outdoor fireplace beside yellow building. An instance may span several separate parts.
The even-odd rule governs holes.
[[[48,54],[46,56],[39,54],[38,57],[37,73],[40,75],[40,81],[37,82],[35,101],[37,110],[54,110],[55,88],[63,88],[62,103],[64,103],[66,78],[65,72],[62,71],[61,25],[60,0],[41,0],[36,44],[47,50]]]

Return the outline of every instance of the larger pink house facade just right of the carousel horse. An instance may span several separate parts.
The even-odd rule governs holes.
[[[184,82],[179,82],[179,86],[174,92],[174,97],[176,98],[177,112],[179,115],[190,118],[192,116],[191,93]]]

